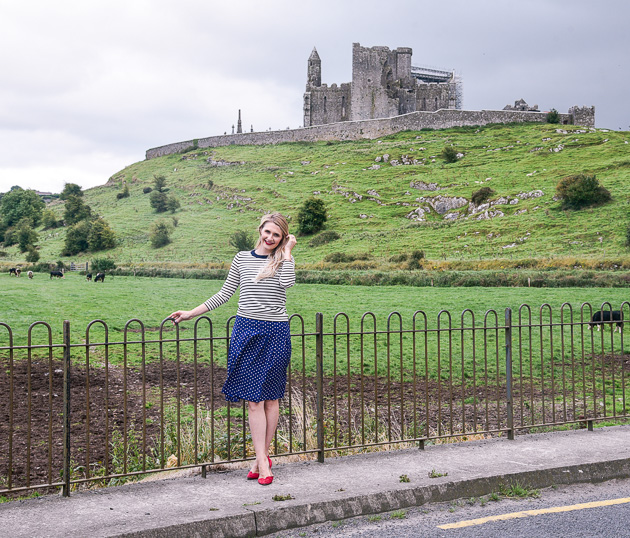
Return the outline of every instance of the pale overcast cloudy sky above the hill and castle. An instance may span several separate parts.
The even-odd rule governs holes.
[[[628,21],[627,0],[0,0],[0,192],[101,185],[239,108],[247,130],[298,127],[311,50],[350,82],[354,42],[454,69],[465,109],[595,105],[630,130]]]

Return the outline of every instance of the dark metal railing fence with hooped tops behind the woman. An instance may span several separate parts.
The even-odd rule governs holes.
[[[614,312],[618,312],[615,314]],[[612,321],[589,326],[594,314]],[[579,311],[397,312],[314,326],[290,318],[293,358],[277,456],[386,450],[630,417],[630,303]],[[245,402],[220,392],[234,318],[122,328],[102,320],[61,339],[44,322],[0,323],[0,493],[117,484],[136,475],[253,458]],[[619,323],[621,325],[621,323]],[[113,337],[110,337],[110,334]]]

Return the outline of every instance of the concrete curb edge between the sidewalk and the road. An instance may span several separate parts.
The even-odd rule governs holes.
[[[350,517],[378,514],[421,506],[431,502],[445,502],[462,498],[480,497],[500,490],[502,486],[521,484],[529,488],[546,488],[555,484],[603,482],[630,477],[630,458],[602,461],[551,469],[499,474],[435,485],[411,486],[345,499],[331,499],[317,503],[303,503],[278,509],[251,509],[249,515],[232,515],[195,521],[182,525],[147,529],[119,536],[140,537],[249,537],[264,536],[295,527],[335,521]]]

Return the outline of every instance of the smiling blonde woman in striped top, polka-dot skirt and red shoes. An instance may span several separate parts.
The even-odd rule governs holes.
[[[179,323],[214,310],[240,286],[222,392],[231,402],[248,402],[256,461],[247,478],[267,486],[273,482],[269,445],[278,426],[278,400],[284,396],[291,360],[286,290],[295,284],[291,251],[296,239],[280,213],[265,215],[258,233],[254,250],[234,257],[221,291],[193,310],[173,312],[170,318]]]

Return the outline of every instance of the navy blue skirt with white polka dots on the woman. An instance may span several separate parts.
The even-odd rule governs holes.
[[[227,380],[221,392],[230,402],[279,400],[291,361],[288,321],[236,316],[228,351]]]

